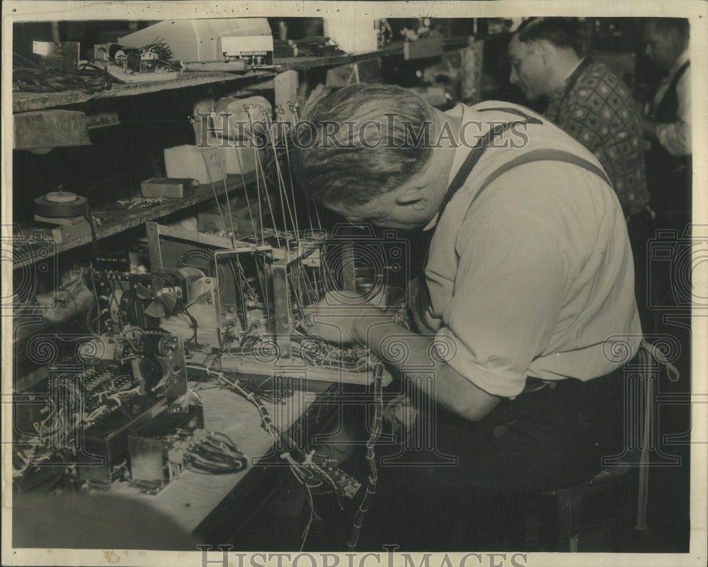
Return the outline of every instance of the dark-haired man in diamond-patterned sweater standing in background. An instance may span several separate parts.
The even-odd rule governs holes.
[[[652,213],[641,113],[629,88],[607,66],[578,52],[573,21],[531,18],[509,43],[509,80],[529,100],[547,96],[543,114],[592,151],[612,181],[627,219],[642,328],[649,331],[653,323],[646,301],[646,244]]]

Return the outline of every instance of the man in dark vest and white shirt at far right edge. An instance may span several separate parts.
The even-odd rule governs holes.
[[[687,220],[691,207],[691,67],[689,23],[685,18],[653,18],[644,25],[646,55],[668,71],[649,105],[644,135],[647,178],[658,213]]]

